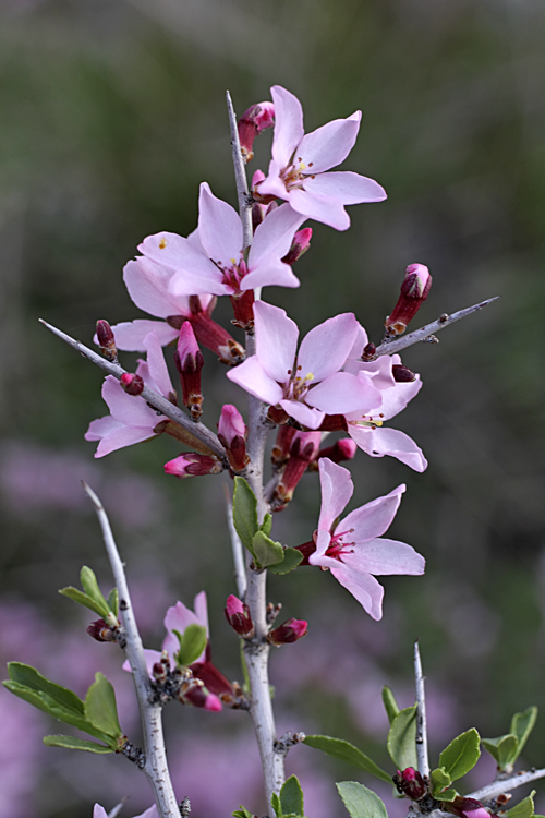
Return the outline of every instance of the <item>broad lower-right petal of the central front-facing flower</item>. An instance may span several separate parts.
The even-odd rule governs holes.
[[[308,406],[326,414],[344,414],[356,410],[367,412],[372,407],[379,406],[380,401],[380,392],[375,389],[371,378],[364,381],[349,372],[329,375],[306,395]]]

